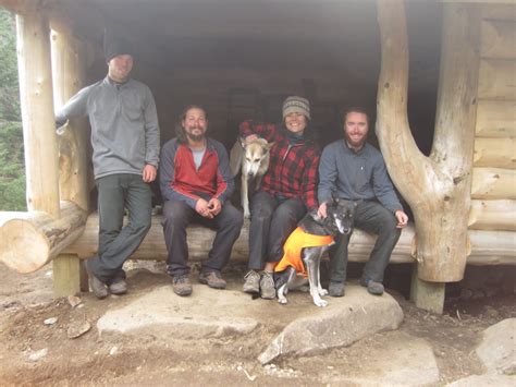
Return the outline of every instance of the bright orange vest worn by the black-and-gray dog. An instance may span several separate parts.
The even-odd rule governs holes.
[[[333,242],[332,235],[314,235],[305,232],[300,227],[296,228],[287,238],[283,246],[283,257],[274,267],[274,271],[283,271],[288,266],[296,269],[297,274],[307,276],[302,259],[302,250],[305,247],[325,246]]]

